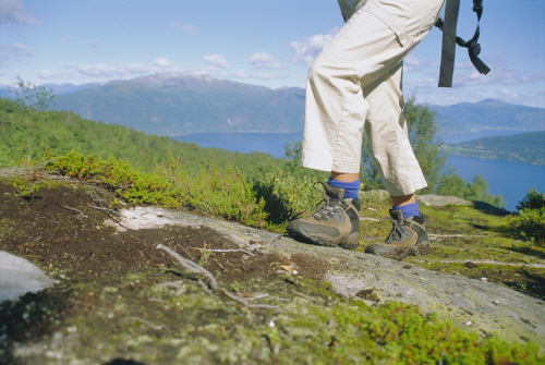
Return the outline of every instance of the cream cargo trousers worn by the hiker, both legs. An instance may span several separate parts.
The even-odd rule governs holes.
[[[408,138],[403,58],[437,20],[444,0],[339,0],[347,23],[308,72],[302,166],[360,171],[363,131],[391,195],[425,187]]]

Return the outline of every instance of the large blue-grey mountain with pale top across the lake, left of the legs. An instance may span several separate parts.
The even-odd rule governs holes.
[[[301,131],[303,104],[300,88],[155,75],[58,95],[53,108],[146,133],[180,135]]]

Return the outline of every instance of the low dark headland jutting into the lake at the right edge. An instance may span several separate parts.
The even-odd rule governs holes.
[[[486,137],[443,147],[448,155],[545,166],[545,131]]]

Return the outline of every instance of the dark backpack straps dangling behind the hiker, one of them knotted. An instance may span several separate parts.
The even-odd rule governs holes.
[[[479,58],[481,53],[481,45],[479,45],[479,36],[481,29],[479,23],[483,15],[483,0],[473,0],[473,11],[477,16],[477,26],[473,38],[465,41],[456,35],[456,27],[458,23],[458,13],[460,10],[460,0],[447,0],[445,7],[445,21],[438,19],[435,26],[443,31],[443,49],[441,62],[439,71],[439,87],[452,87],[452,75],[455,73],[455,56],[456,45],[468,48],[471,63],[481,74],[487,74],[491,69]]]

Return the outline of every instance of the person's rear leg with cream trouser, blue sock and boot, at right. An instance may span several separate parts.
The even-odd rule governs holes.
[[[426,186],[426,181],[410,146],[401,84],[402,68],[397,66],[363,89],[370,102],[365,132],[392,203],[390,234],[384,242],[365,247],[365,252],[398,260],[429,251],[424,216],[414,194]]]

